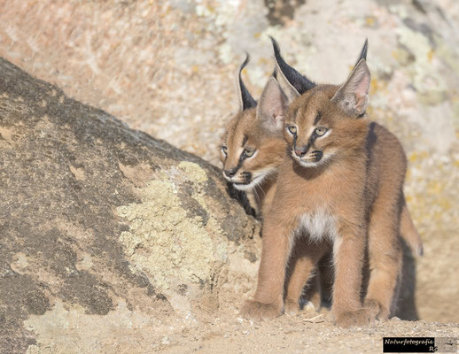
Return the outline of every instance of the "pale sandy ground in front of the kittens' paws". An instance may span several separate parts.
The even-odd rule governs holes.
[[[374,327],[342,329],[327,313],[301,312],[253,322],[214,319],[163,338],[164,353],[380,353],[385,336],[459,337],[458,324],[391,319]]]

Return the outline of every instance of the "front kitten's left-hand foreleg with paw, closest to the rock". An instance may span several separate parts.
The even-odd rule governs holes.
[[[294,224],[267,218],[262,238],[261,262],[254,300],[247,301],[241,314],[251,319],[272,319],[284,303],[285,266],[292,248]]]

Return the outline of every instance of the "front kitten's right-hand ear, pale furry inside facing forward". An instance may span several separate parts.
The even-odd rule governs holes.
[[[362,116],[370,103],[370,79],[370,70],[366,61],[362,59],[355,65],[347,81],[341,85],[331,101],[340,105],[350,116]]]

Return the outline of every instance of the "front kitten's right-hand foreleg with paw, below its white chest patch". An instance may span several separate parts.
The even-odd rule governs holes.
[[[341,221],[333,246],[335,282],[332,311],[340,327],[362,327],[373,323],[376,313],[362,308],[362,266],[366,235],[363,222]]]

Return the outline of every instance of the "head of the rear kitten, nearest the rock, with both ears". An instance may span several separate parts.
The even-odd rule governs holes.
[[[273,74],[263,89],[260,103],[256,104],[241,79],[247,62],[248,56],[237,73],[239,110],[222,136],[220,152],[223,177],[240,190],[253,189],[276,173],[285,151],[284,92]]]

